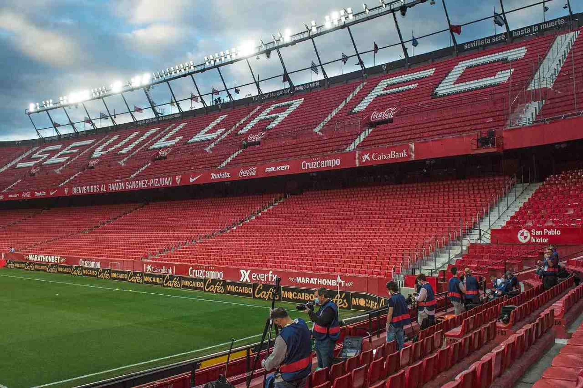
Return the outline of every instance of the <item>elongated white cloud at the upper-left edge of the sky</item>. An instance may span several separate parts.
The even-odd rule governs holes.
[[[28,57],[58,68],[82,60],[82,50],[71,37],[36,26],[24,15],[9,10],[0,11],[0,29],[9,31],[8,39]]]

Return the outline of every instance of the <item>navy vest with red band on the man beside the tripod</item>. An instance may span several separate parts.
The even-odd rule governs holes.
[[[296,319],[279,332],[287,345],[287,356],[279,366],[283,380],[291,382],[307,377],[312,372],[310,329],[303,319]]]

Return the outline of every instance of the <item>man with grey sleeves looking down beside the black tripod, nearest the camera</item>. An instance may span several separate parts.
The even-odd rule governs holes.
[[[273,351],[261,361],[266,371],[276,369],[266,381],[274,380],[275,388],[304,388],[312,371],[310,329],[303,319],[291,319],[282,307],[274,309],[270,316],[281,330]]]

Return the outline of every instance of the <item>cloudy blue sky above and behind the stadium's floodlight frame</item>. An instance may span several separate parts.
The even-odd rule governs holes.
[[[377,2],[367,0],[371,8]],[[505,10],[519,8],[538,0],[504,0]],[[546,19],[567,15],[563,9],[566,0],[547,1],[549,10]],[[24,110],[29,103],[42,100],[57,101],[59,96],[69,93],[110,85],[115,80],[125,81],[135,75],[153,72],[180,62],[201,63],[205,55],[236,47],[245,41],[259,39],[271,41],[271,34],[290,29],[292,33],[304,29],[304,23],[315,20],[324,23],[325,15],[340,6],[352,7],[355,12],[362,10],[361,2],[345,0],[2,0],[0,5],[0,141],[31,139],[36,132]],[[462,24],[481,17],[490,16],[496,8],[500,12],[498,0],[447,0],[448,12],[453,24]],[[574,12],[583,10],[583,2],[571,1]],[[542,5],[508,15],[511,29],[539,23],[543,20]],[[398,17],[405,38],[412,33],[416,37],[447,28],[441,2],[429,2],[409,9],[406,17]],[[373,41],[379,46],[398,42],[392,17],[385,16],[373,22],[361,23],[353,29],[354,40],[360,51],[371,50]],[[497,27],[497,33],[502,30]],[[494,33],[491,20],[475,23],[463,28],[458,43]],[[436,50],[449,44],[449,34],[419,40],[415,54]],[[328,34],[317,40],[322,61],[338,59],[341,52],[354,54],[354,48],[346,30]],[[409,54],[413,48],[409,44]],[[401,47],[381,50],[376,63],[381,64],[399,59]],[[289,70],[305,68],[313,59],[314,49],[310,42],[294,45],[282,51]],[[373,65],[372,54],[364,55],[366,66]],[[329,76],[341,71],[358,69],[356,59],[341,69],[339,63],[326,66]],[[271,59],[252,59],[254,72],[262,79],[282,72],[277,56]],[[222,70],[228,87],[252,81],[244,61]],[[321,79],[322,75],[313,75]],[[310,70],[292,75],[295,84],[309,82]],[[216,71],[196,76],[201,93],[212,87],[223,89]],[[188,78],[171,83],[178,100],[188,98],[194,85]],[[280,80],[266,81],[261,89],[271,91],[283,87]],[[254,86],[242,87],[240,97],[256,93]],[[130,107],[146,107],[143,92],[125,94]],[[169,103],[170,92],[163,85],[152,89],[156,103]],[[223,97],[226,96],[223,93]],[[107,100],[110,109],[125,111],[121,97]],[[92,118],[105,112],[103,103],[86,103]],[[199,104],[194,107],[199,107]],[[190,108],[184,101],[182,107]],[[166,105],[165,113],[176,108]],[[68,110],[71,119],[82,120],[82,108]],[[149,118],[150,110],[136,114],[136,119]],[[50,125],[46,114],[32,116],[38,128]],[[55,111],[53,119],[65,124],[68,120],[64,112]],[[117,122],[131,121],[127,114],[117,115]],[[99,124],[99,120],[96,121]],[[106,125],[104,121],[101,123]],[[82,129],[82,126],[78,126]],[[63,126],[61,132],[69,132]],[[52,130],[43,133],[52,135]]]

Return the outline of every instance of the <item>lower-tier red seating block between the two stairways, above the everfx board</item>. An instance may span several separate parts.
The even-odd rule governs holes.
[[[448,244],[507,178],[308,191],[227,234],[154,260],[392,276],[404,252]],[[475,222],[475,221],[474,221]],[[298,258],[302,262],[297,261]]]

